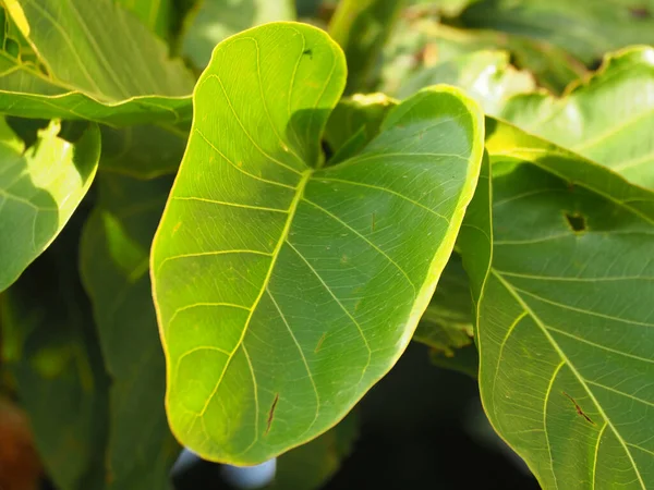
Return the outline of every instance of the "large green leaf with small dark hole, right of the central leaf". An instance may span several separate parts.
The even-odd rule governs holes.
[[[652,488],[654,195],[488,123],[494,249],[475,280],[486,413],[545,489]],[[477,247],[463,254],[481,266]]]

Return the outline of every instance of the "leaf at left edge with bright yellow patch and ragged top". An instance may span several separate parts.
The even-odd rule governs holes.
[[[0,291],[57,237],[86,195],[100,157],[100,132],[90,125],[70,143],[52,122],[25,149],[0,120]]]

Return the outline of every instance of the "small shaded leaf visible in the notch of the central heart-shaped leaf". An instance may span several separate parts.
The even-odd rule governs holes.
[[[359,154],[377,136],[384,118],[397,105],[397,100],[384,94],[355,94],[338,102],[327,121],[324,135],[334,152],[329,164]]]

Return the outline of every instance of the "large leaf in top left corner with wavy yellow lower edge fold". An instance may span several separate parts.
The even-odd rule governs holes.
[[[38,63],[0,52],[0,112],[111,124],[190,119],[190,73],[113,0],[15,0],[5,8],[8,25],[22,33],[14,37],[24,36]]]

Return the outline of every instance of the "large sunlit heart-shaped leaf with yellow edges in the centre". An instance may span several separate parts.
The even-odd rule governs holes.
[[[219,45],[195,90],[152,273],[171,428],[205,458],[259,463],[340,420],[405,348],[472,197],[482,115],[449,87],[322,169],[344,78],[324,32],[282,23]]]

